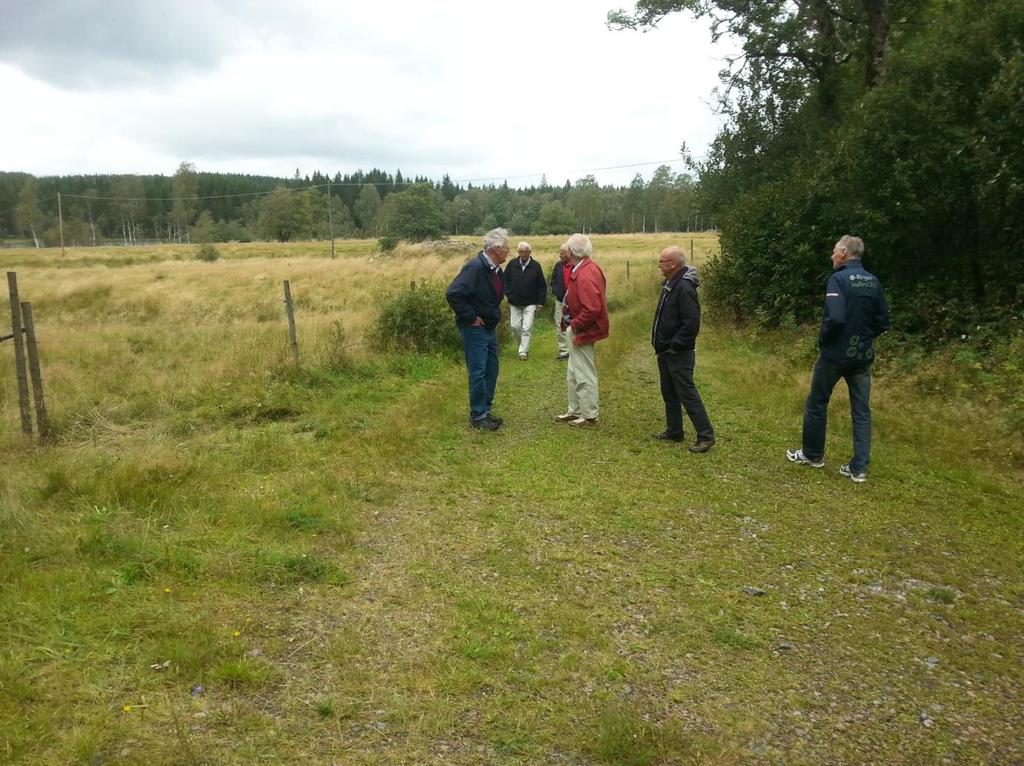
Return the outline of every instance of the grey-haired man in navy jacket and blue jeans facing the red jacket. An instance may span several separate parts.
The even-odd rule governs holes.
[[[498,335],[505,284],[501,265],[509,255],[508,231],[483,236],[483,250],[470,258],[449,285],[444,297],[462,333],[469,376],[469,424],[497,431],[502,419],[490,412],[498,385]]]

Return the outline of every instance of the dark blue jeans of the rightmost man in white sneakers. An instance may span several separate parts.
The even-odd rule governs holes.
[[[869,365],[841,365],[818,357],[811,376],[811,392],[804,406],[804,456],[821,460],[825,455],[828,399],[840,378],[850,391],[853,419],[853,459],[850,470],[862,473],[871,462],[871,368]]]

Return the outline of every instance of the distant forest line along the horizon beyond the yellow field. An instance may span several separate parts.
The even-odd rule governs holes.
[[[381,170],[292,178],[197,171],[172,176],[0,172],[0,240],[36,247],[141,242],[247,242],[391,237],[409,241],[479,235],[674,231],[708,228],[687,173],[659,166],[648,180],[600,185],[592,175],[562,185],[465,186]]]

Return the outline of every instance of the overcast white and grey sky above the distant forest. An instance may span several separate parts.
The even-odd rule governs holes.
[[[0,0],[0,170],[626,183],[703,154],[724,49],[623,0]],[[681,163],[674,169],[683,170]]]

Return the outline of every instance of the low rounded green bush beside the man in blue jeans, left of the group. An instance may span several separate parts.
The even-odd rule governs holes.
[[[398,351],[434,353],[462,347],[444,289],[431,283],[409,287],[388,298],[371,335],[383,347]]]

